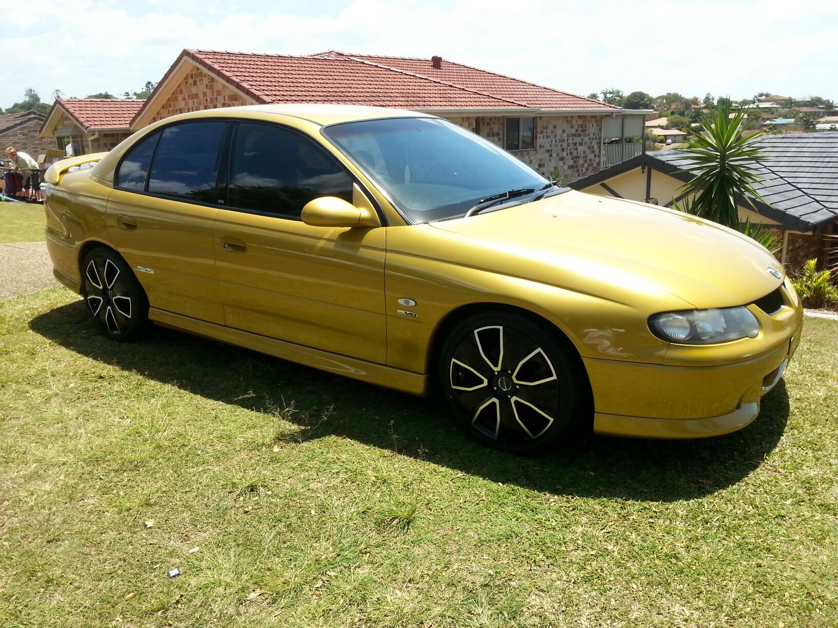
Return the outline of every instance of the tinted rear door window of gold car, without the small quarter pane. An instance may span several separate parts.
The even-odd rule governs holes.
[[[215,203],[215,162],[227,123],[187,122],[163,129],[148,191]]]

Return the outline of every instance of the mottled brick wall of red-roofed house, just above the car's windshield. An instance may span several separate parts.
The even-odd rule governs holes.
[[[504,117],[446,119],[504,147]],[[512,154],[546,177],[558,171],[564,183],[572,183],[599,172],[602,130],[600,116],[535,116],[535,148]]]

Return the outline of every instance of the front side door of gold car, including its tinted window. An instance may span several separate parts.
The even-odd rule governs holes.
[[[307,136],[237,122],[215,259],[228,327],[384,363],[385,228],[303,224],[303,205],[357,202],[354,180]]]

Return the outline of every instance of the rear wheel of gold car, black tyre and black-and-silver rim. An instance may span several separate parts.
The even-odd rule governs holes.
[[[112,340],[136,338],[148,322],[148,299],[122,256],[106,246],[81,262],[81,295],[87,311]]]

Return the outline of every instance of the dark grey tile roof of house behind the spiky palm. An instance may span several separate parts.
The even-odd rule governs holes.
[[[784,214],[770,218],[802,231],[838,220],[838,131],[769,135],[759,144],[765,157],[753,165],[763,181],[754,189]],[[673,167],[690,163],[680,151],[647,155]]]

